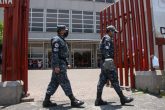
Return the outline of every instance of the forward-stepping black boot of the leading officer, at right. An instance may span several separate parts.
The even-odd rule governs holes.
[[[119,97],[120,97],[120,102],[121,102],[121,105],[124,105],[125,103],[130,103],[133,101],[133,98],[132,97],[126,97],[123,95],[123,92],[120,92],[119,93]]]

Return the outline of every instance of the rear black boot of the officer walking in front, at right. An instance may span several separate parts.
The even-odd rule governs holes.
[[[101,106],[101,105],[107,105],[108,103],[106,101],[103,101],[102,98],[102,92],[97,92],[97,98],[95,100],[95,106]]]

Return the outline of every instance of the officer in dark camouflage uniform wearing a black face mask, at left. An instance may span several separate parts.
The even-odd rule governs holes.
[[[71,106],[81,106],[84,102],[74,97],[70,81],[67,77],[67,67],[70,67],[70,65],[68,63],[69,50],[65,38],[68,36],[68,29],[65,25],[59,25],[57,26],[57,34],[57,36],[51,39],[52,77],[46,91],[43,107],[57,105],[50,101],[50,97],[56,92],[59,85],[71,100]]]

